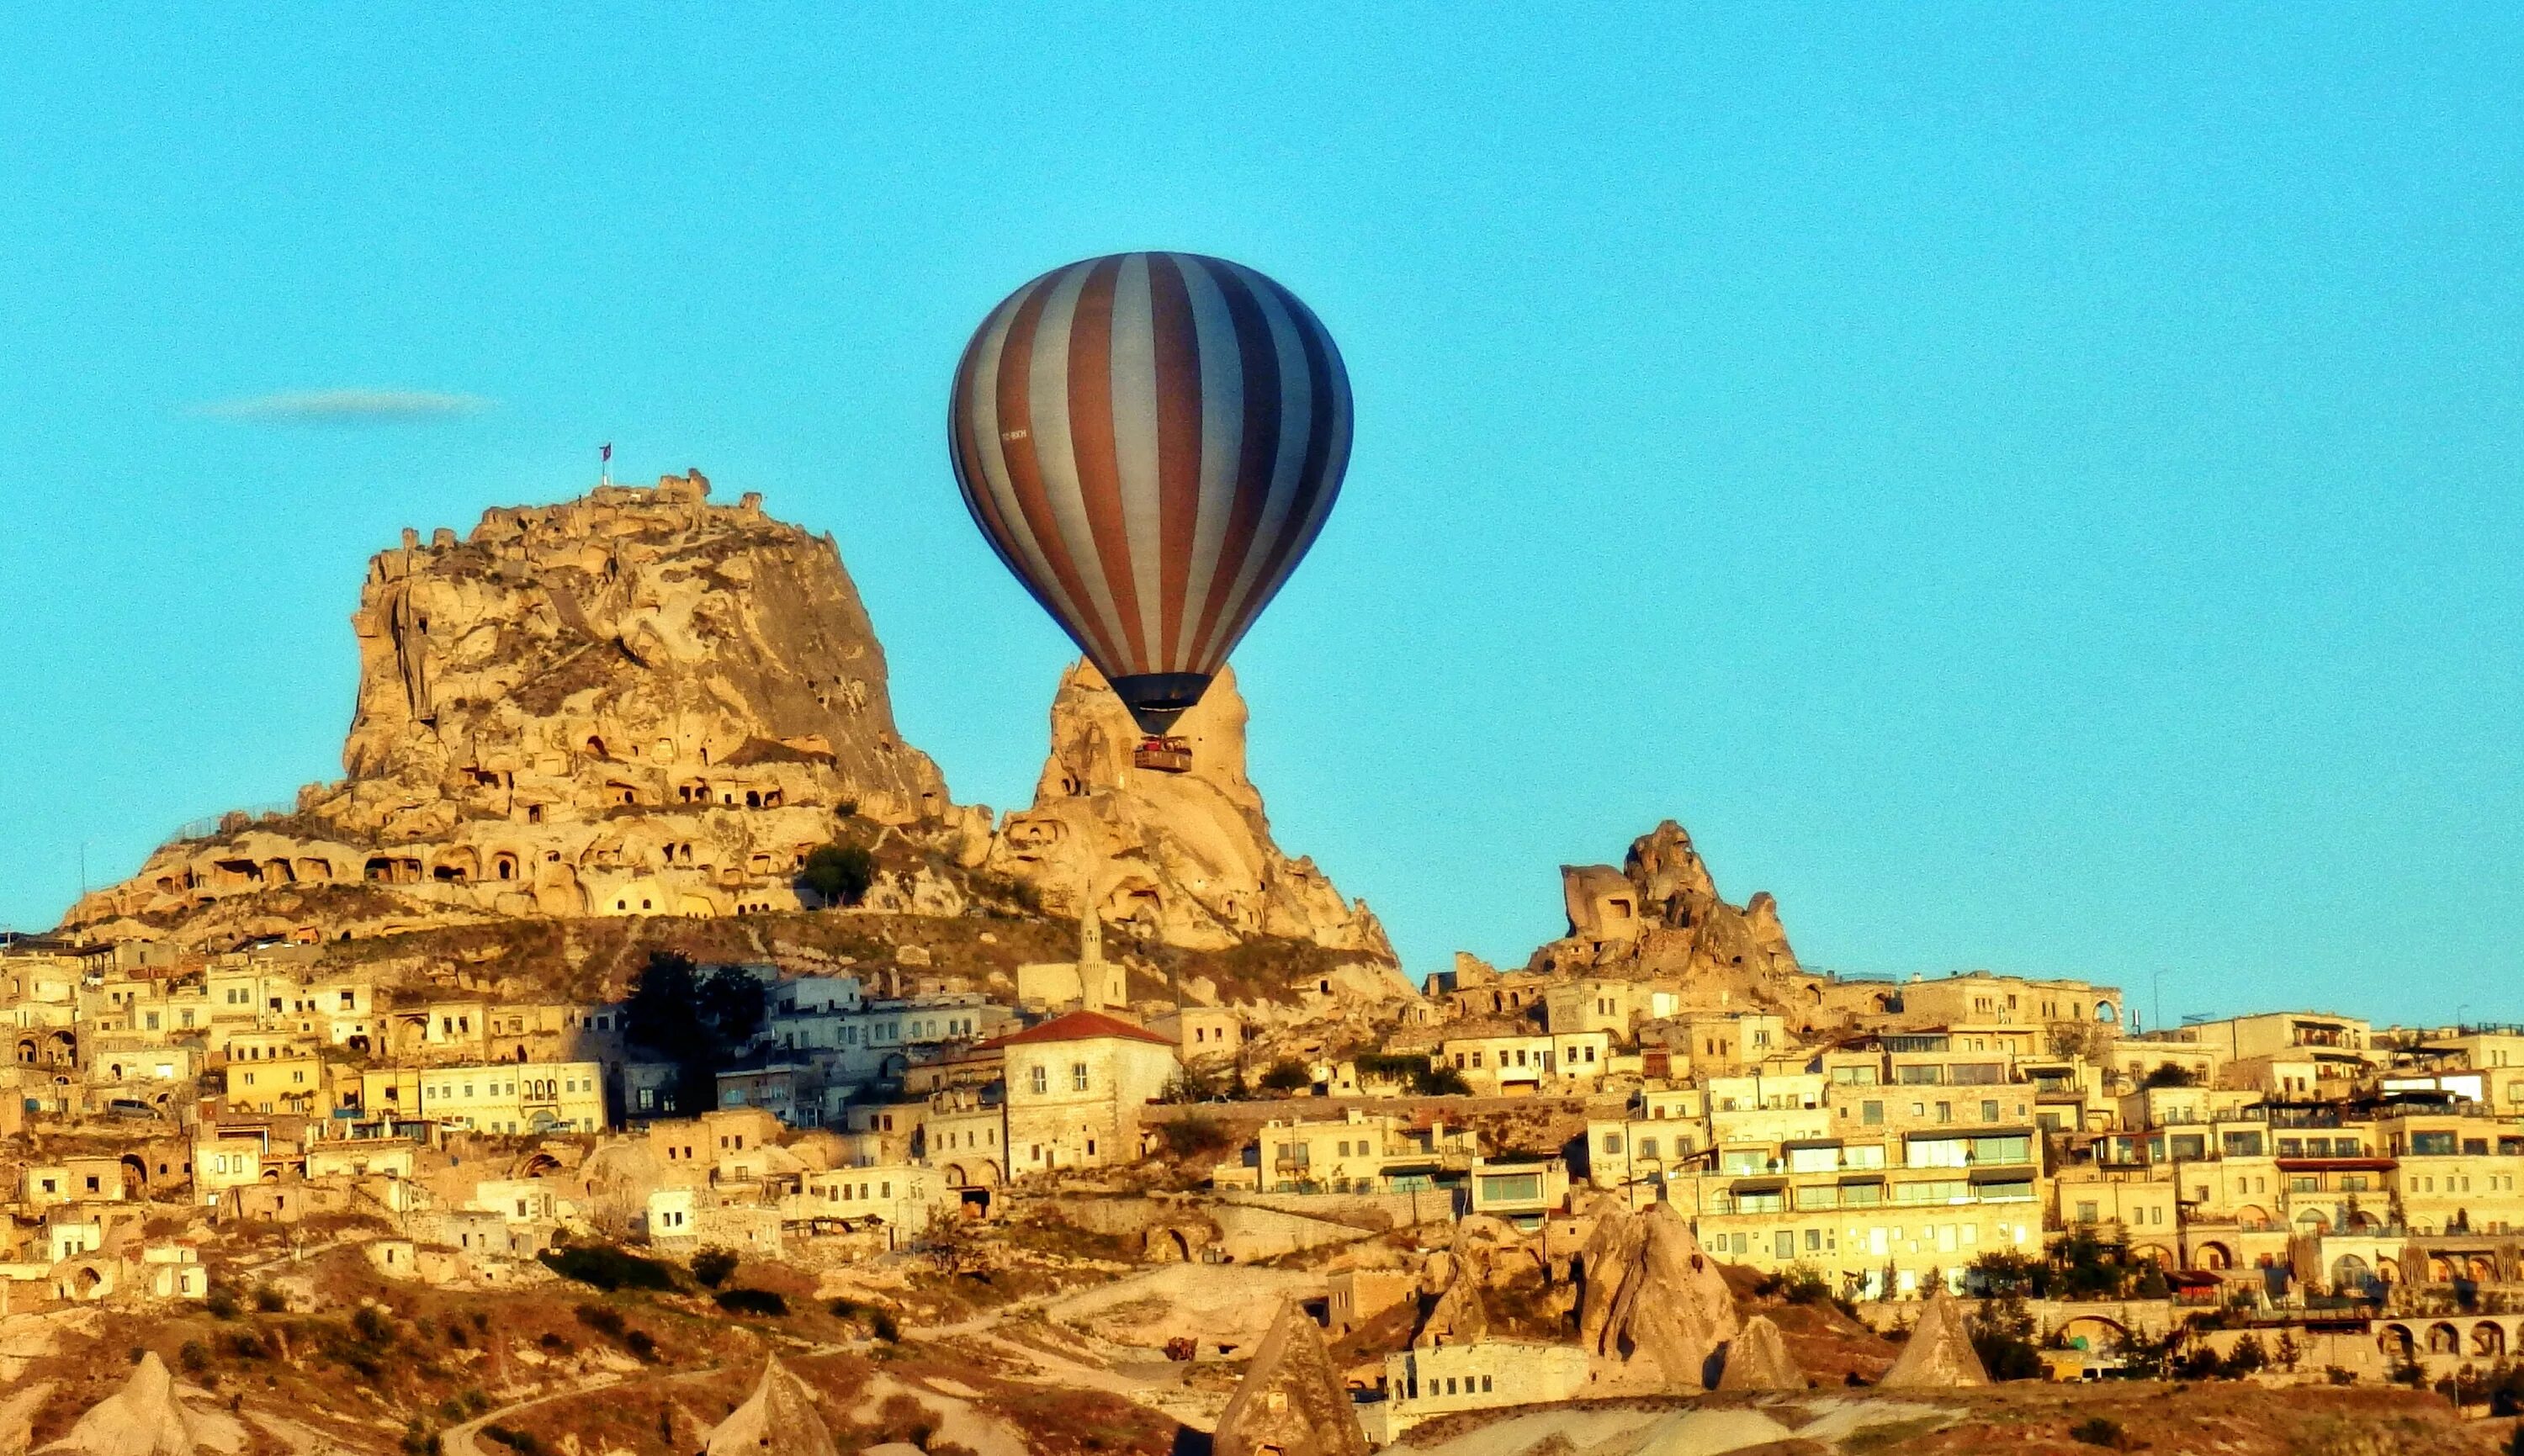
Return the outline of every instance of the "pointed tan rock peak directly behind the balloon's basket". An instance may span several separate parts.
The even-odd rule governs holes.
[[[1244,717],[1227,669],[1174,729],[1191,744],[1191,772],[1141,770],[1128,709],[1093,666],[1070,666],[1035,805],[1007,815],[989,868],[1035,886],[1055,913],[1093,903],[1106,924],[1179,946],[1285,936],[1391,961],[1365,901],[1343,901],[1312,860],[1272,843],[1244,777]]]

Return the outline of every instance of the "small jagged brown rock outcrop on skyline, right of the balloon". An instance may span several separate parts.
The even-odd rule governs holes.
[[[1633,840],[1618,871],[1560,866],[1560,896],[1570,934],[1535,951],[1535,969],[1681,977],[1711,994],[1749,994],[1800,974],[1777,901],[1767,891],[1742,908],[1719,898],[1673,820]]]

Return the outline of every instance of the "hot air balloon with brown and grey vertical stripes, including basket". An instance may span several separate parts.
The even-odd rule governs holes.
[[[974,525],[1181,772],[1166,729],[1315,543],[1350,462],[1323,320],[1196,252],[1116,252],[1007,295],[946,419]]]

